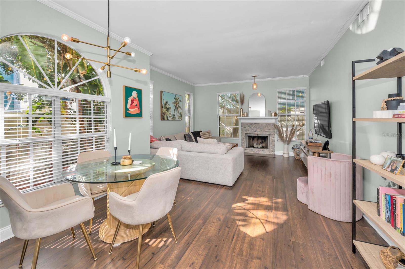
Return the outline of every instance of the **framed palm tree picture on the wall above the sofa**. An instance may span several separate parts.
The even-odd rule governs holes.
[[[183,96],[167,91],[160,91],[160,120],[182,121],[183,120]]]

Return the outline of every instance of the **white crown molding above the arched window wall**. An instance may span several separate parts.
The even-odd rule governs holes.
[[[63,13],[64,15],[67,15],[67,16],[71,17],[72,19],[75,19],[75,20],[80,21],[81,23],[83,23],[83,24],[85,24],[87,26],[90,26],[91,28],[97,30],[98,32],[102,32],[103,34],[107,34],[107,32],[108,32],[107,29],[105,29],[105,28],[101,27],[100,25],[86,19],[85,17],[82,17],[82,16],[76,14],[75,12],[61,6],[60,4],[57,4],[57,3],[53,2],[52,0],[37,0],[37,1],[42,3],[42,4],[45,4],[45,5],[49,6],[51,8],[53,8],[53,9],[55,9],[56,11],[59,11],[60,13]],[[118,40],[119,42],[122,42],[122,40],[124,40],[123,37],[121,37],[121,36],[119,36],[117,34],[114,34],[112,32],[110,32],[110,37]],[[138,51],[141,51],[142,53],[145,53],[146,55],[149,55],[149,56],[151,56],[153,54],[150,51],[147,51],[146,49],[143,49],[143,48],[137,46],[134,43],[129,43],[128,46],[132,47],[132,48],[134,48],[134,49],[136,49]]]

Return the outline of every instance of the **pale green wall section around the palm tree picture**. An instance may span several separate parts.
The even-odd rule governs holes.
[[[184,92],[194,93],[194,86],[184,83],[170,76],[166,76],[155,70],[150,70],[150,80],[153,81],[153,136],[171,135],[185,131],[185,95]],[[183,120],[161,121],[160,120],[160,91],[167,91],[183,96]]]

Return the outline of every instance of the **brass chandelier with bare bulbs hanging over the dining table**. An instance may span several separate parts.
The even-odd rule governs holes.
[[[148,71],[146,69],[129,68],[129,67],[126,67],[126,66],[119,66],[119,65],[110,63],[111,59],[113,59],[114,56],[118,52],[124,53],[126,55],[131,56],[131,57],[135,57],[135,53],[128,52],[128,51],[121,51],[121,49],[123,47],[125,47],[126,45],[128,45],[131,42],[131,39],[129,37],[124,38],[124,41],[122,41],[122,43],[121,43],[121,45],[119,46],[118,49],[111,49],[110,48],[110,0],[108,0],[107,17],[108,17],[107,46],[100,46],[100,45],[97,45],[97,44],[92,44],[92,43],[89,43],[89,42],[81,41],[81,40],[79,40],[77,38],[69,37],[67,34],[62,34],[62,36],[60,36],[63,41],[72,41],[72,42],[76,42],[76,43],[84,43],[84,44],[89,44],[89,45],[92,45],[92,46],[95,46],[95,47],[100,47],[100,48],[106,49],[107,50],[107,61],[104,62],[104,61],[97,61],[97,60],[87,59],[87,58],[84,58],[84,57],[79,57],[78,55],[72,55],[70,53],[65,53],[65,58],[66,59],[82,59],[82,60],[86,60],[86,61],[94,61],[96,63],[104,64],[103,66],[101,66],[98,69],[98,71],[102,72],[105,69],[105,67],[107,66],[107,78],[111,78],[110,66],[121,67],[121,68],[125,68],[125,69],[134,70],[135,72],[138,72],[138,73],[147,74]],[[113,55],[110,55],[110,51],[115,51],[115,53]]]

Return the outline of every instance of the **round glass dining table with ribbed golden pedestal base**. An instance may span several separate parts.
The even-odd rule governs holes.
[[[162,155],[131,155],[132,165],[112,165],[115,157],[94,159],[71,165],[62,171],[62,177],[79,184],[107,184],[107,219],[102,222],[98,235],[102,241],[111,243],[118,219],[110,214],[109,193],[115,192],[123,197],[138,192],[148,176],[179,166],[179,161]],[[119,161],[122,156],[117,156]],[[143,225],[146,233],[151,223]],[[139,225],[122,223],[115,243],[123,243],[139,236]]]

